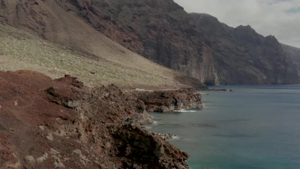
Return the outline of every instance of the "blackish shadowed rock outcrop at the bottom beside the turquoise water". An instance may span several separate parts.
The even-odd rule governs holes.
[[[137,168],[134,164],[142,164],[140,169],[189,169],[183,163],[188,154],[166,144],[158,134],[129,125],[118,128],[114,136],[119,141],[118,155],[129,159],[124,168]]]

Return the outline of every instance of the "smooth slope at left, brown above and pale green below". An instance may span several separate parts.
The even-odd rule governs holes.
[[[0,69],[33,69],[52,78],[64,74],[87,84],[183,86],[185,75],[151,62],[90,27],[61,0],[1,0]],[[73,51],[72,51],[73,50]],[[75,51],[75,52],[74,52]]]

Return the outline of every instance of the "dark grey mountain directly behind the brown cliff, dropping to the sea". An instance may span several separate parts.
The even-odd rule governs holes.
[[[232,28],[208,14],[191,15],[196,26],[211,41],[221,82],[299,82],[292,61],[274,36],[263,37],[249,25]]]

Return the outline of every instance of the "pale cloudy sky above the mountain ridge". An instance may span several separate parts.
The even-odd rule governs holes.
[[[300,0],[175,0],[188,12],[208,13],[229,26],[251,25],[263,36],[300,47]]]

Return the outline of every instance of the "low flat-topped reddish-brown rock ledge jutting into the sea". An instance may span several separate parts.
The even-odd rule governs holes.
[[[203,108],[201,94],[193,89],[138,92],[149,112],[172,112],[181,109]]]

